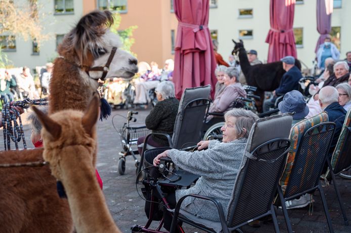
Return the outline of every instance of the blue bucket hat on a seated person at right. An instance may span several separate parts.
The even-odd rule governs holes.
[[[283,101],[278,104],[278,108],[282,113],[295,112],[292,116],[292,119],[294,120],[304,118],[310,112],[303,95],[296,90],[286,93]]]

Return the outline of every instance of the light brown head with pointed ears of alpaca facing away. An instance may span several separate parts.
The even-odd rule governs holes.
[[[43,157],[50,163],[52,174],[58,180],[61,180],[60,166],[63,162],[73,162],[78,158],[95,166],[99,97],[93,97],[85,112],[62,110],[48,116],[34,106],[32,108],[43,126]]]

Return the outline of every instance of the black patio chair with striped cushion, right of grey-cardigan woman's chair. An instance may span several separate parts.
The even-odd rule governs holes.
[[[298,124],[304,125],[305,121],[297,123],[294,127],[298,126]],[[311,128],[307,128],[299,139],[297,152],[294,157],[285,192],[283,193],[281,186],[278,188],[280,204],[283,209],[288,232],[293,231],[285,202],[298,198],[303,194],[311,194],[316,190],[319,190],[322,199],[329,230],[330,232],[334,232],[324,197],[324,191],[320,182],[320,176],[328,156],[334,130],[335,123],[320,123]]]

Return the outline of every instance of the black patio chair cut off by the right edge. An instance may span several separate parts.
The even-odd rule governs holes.
[[[345,121],[342,126],[340,136],[336,144],[335,150],[333,152],[331,161],[327,159],[328,170],[325,174],[322,174],[321,176],[326,181],[327,185],[329,184],[328,180],[330,180],[330,177],[332,178],[332,181],[334,183],[335,193],[340,204],[340,209],[341,209],[342,216],[344,218],[345,225],[348,225],[347,216],[346,216],[345,209],[342,205],[339,189],[337,188],[335,183],[335,177],[347,176],[347,175],[344,175],[343,172],[351,168],[350,155],[351,155],[351,109],[349,109],[346,113]]]

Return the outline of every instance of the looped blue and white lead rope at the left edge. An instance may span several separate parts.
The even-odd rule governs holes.
[[[23,109],[28,108],[30,105],[48,105],[48,98],[42,99],[29,99],[26,98],[22,101],[16,101],[12,106],[19,106]],[[10,112],[10,109],[13,112]],[[20,112],[16,109],[10,108],[10,103],[3,105],[2,113],[2,123],[3,123],[3,133],[4,133],[4,147],[5,150],[11,149],[11,141],[15,143],[16,149],[18,149],[18,142],[23,139],[23,147],[27,149],[26,140],[24,138],[23,125],[21,120]],[[16,118],[18,117],[19,124],[17,123]]]

